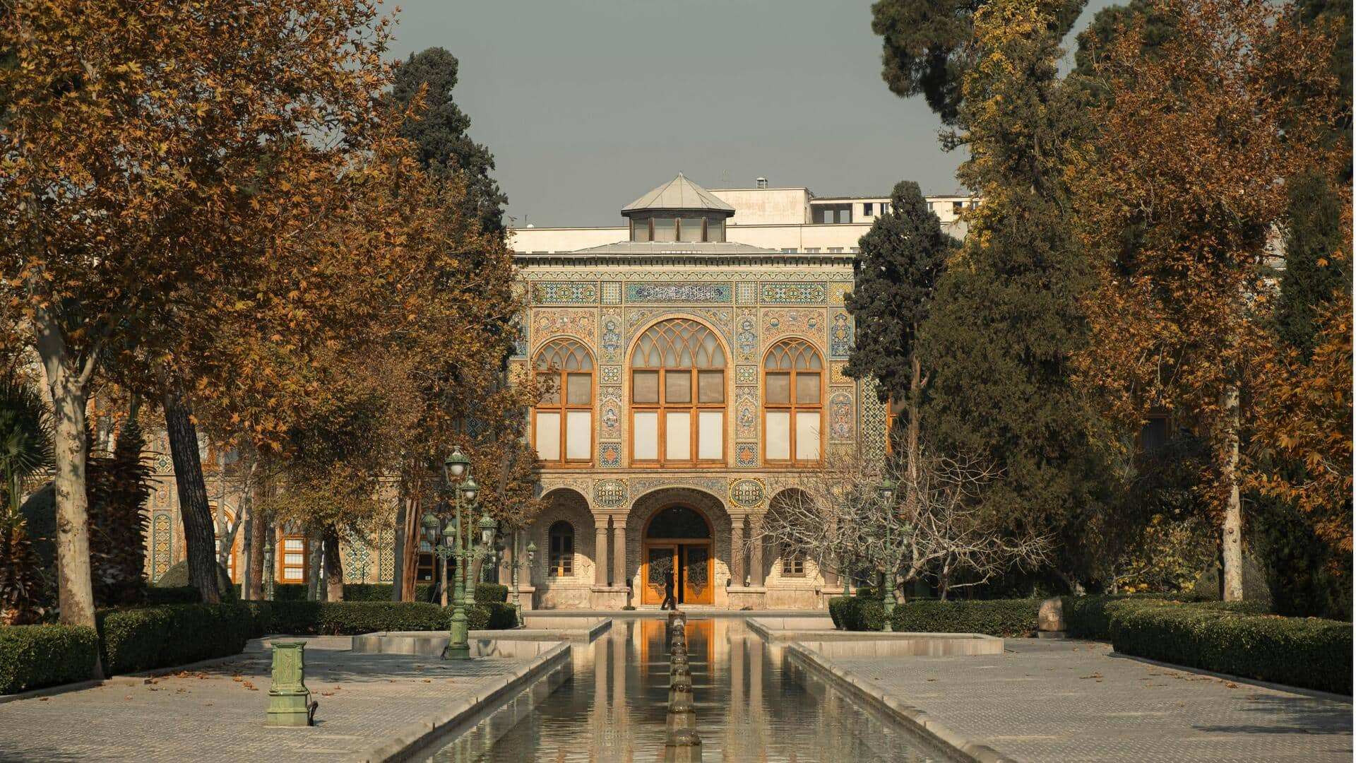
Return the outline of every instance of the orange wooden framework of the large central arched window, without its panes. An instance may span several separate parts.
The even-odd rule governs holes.
[[[645,330],[641,331],[639,335],[640,337],[645,335],[651,329],[654,329],[655,326],[659,326],[660,323],[664,323],[667,320],[689,320],[689,322],[696,323],[698,326],[702,326],[704,329],[706,329],[708,331],[711,331],[711,334],[716,339],[716,346],[720,348],[720,353],[725,358],[725,365],[721,365],[721,367],[717,367],[717,368],[698,368],[698,367],[692,367],[692,368],[637,367],[635,364],[636,349],[639,346],[639,339],[637,339],[637,345],[631,348],[631,354],[629,354],[631,364],[628,367],[628,371],[629,371],[629,379],[628,379],[628,382],[629,382],[629,388],[628,388],[629,398],[628,399],[629,399],[631,405],[626,409],[626,425],[628,425],[628,432],[631,434],[631,443],[629,443],[631,447],[628,448],[628,452],[631,453],[631,466],[635,466],[635,467],[725,466],[725,463],[727,463],[727,443],[725,443],[725,440],[727,440],[727,434],[730,432],[730,410],[728,410],[730,409],[730,387],[728,387],[728,384],[730,384],[730,375],[727,373],[730,354],[725,352],[725,346],[720,343],[720,335],[716,334],[716,331],[711,326],[706,326],[705,323],[702,323],[700,320],[696,320],[696,319],[692,319],[692,318],[670,318],[670,319],[666,319],[666,320],[660,320],[658,323],[652,323],[651,326],[647,326]],[[693,354],[696,354],[696,353],[693,353]],[[636,402],[636,372],[637,371],[639,372],[658,372],[659,373],[659,379],[658,379],[659,387],[658,387],[658,395],[656,395],[658,402],[655,402],[655,403],[637,403]],[[702,402],[698,402],[701,399],[701,391],[698,388],[698,384],[700,384],[700,380],[701,380],[700,373],[704,372],[704,371],[705,372],[715,372],[715,371],[720,372],[720,396],[721,396],[721,401],[719,403],[702,403]],[[690,390],[692,390],[690,402],[687,402],[687,403],[674,403],[674,405],[670,405],[667,402],[667,392],[669,392],[669,380],[667,380],[667,376],[669,376],[669,373],[686,373],[686,375],[689,375],[689,379],[690,379],[690,383],[692,383],[692,387],[690,387]],[[700,445],[698,440],[700,440],[700,434],[701,434],[700,415],[701,415],[701,411],[713,411],[713,410],[721,413],[721,417],[720,417],[720,456],[715,458],[715,459],[702,459],[702,458],[698,458],[698,453],[701,452],[698,449],[698,445]],[[641,459],[637,459],[636,455],[635,455],[636,453],[636,413],[637,411],[641,411],[641,413],[654,411],[655,415],[656,415],[658,421],[655,422],[655,437],[658,439],[658,441],[655,443],[655,452],[659,456],[656,459],[644,459],[644,460],[641,460]],[[686,460],[670,460],[669,459],[669,414],[670,413],[686,413],[689,415],[689,418],[687,418],[687,452],[692,455],[690,459],[686,459]]]

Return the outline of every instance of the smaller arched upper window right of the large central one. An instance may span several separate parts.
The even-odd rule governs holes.
[[[782,339],[763,358],[763,460],[816,463],[823,437],[824,364],[814,345]]]

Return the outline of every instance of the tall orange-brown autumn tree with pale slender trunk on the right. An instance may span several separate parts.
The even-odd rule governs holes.
[[[1093,111],[1094,151],[1071,172],[1097,269],[1078,371],[1127,430],[1157,409],[1208,433],[1224,595],[1241,599],[1241,447],[1260,413],[1273,293],[1264,266],[1290,181],[1330,160],[1319,145],[1336,91],[1322,65],[1332,43],[1262,0],[1155,11],[1169,16],[1169,39],[1146,53],[1140,18],[1096,62],[1111,96]]]

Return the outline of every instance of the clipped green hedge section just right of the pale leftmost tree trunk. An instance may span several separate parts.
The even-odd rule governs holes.
[[[110,675],[239,654],[256,627],[240,603],[104,610],[95,619]]]

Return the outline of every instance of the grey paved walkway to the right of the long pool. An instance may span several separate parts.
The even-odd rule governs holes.
[[[831,661],[1024,763],[1352,760],[1351,701],[1163,668],[1100,642],[1010,638],[1006,649]]]

